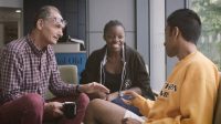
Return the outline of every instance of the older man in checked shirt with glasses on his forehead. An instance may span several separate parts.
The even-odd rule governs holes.
[[[84,93],[108,90],[96,83],[66,84],[61,80],[54,51],[66,22],[52,6],[39,10],[30,34],[7,44],[0,56],[0,124],[80,124],[90,102]],[[45,100],[46,90],[55,96]],[[63,102],[76,102],[76,116],[66,118]]]

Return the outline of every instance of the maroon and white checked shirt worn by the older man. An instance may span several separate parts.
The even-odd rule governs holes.
[[[57,96],[75,91],[73,84],[61,80],[52,46],[39,50],[29,35],[7,44],[0,60],[0,103],[25,93],[38,93],[44,97],[48,87]]]

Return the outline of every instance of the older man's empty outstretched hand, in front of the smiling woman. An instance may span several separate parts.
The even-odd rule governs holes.
[[[83,84],[80,86],[78,91],[88,93],[88,94],[95,93],[95,92],[109,93],[109,90],[107,87],[96,82]]]

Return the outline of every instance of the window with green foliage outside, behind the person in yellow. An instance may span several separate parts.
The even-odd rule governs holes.
[[[202,21],[198,49],[221,69],[221,0],[189,0]]]

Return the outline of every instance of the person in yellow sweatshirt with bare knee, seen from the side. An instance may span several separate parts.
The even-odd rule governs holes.
[[[90,103],[85,124],[212,124],[219,86],[217,66],[197,50],[201,21],[190,9],[172,12],[167,19],[165,48],[179,62],[157,96],[147,100],[127,91],[125,103],[139,108],[144,117],[104,100]]]

